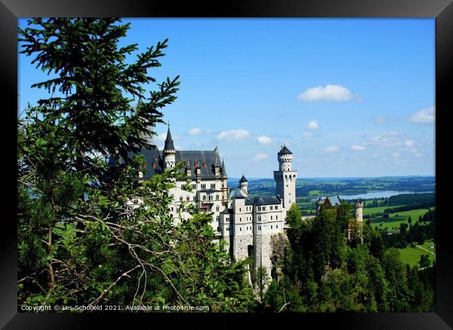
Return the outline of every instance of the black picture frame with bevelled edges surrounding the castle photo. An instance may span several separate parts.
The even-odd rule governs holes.
[[[219,6],[220,5],[220,6]],[[17,313],[17,226],[15,207],[17,173],[17,18],[18,17],[435,17],[436,18],[436,313],[330,313],[330,314],[249,314],[249,315],[132,315]],[[224,3],[144,0],[0,0],[1,90],[3,91],[3,217],[0,240],[0,327],[4,329],[91,329],[93,320],[103,327],[134,327],[146,322],[167,327],[174,320],[197,326],[234,327],[275,321],[280,327],[332,326],[345,329],[451,329],[453,327],[453,251],[448,210],[452,179],[450,121],[453,77],[453,4],[452,0],[310,0],[310,1],[226,1]],[[450,84],[449,84],[450,83]],[[449,93],[450,92],[450,93]],[[7,148],[5,148],[7,147]],[[11,173],[13,172],[13,173]],[[11,173],[11,174],[10,174]],[[449,203],[450,202],[450,203]],[[7,211],[7,212],[4,212]],[[220,320],[219,320],[220,318]],[[289,323],[291,318],[291,325]],[[132,322],[132,323],[131,323]],[[282,323],[283,322],[283,323]]]

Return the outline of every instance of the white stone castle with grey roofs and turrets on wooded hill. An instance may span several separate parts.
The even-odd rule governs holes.
[[[150,136],[146,138],[149,139]],[[149,142],[153,144],[152,141]],[[217,147],[214,150],[176,150],[170,127],[163,150],[142,149],[140,154],[144,155],[146,171],[139,173],[139,180],[148,180],[156,173],[183,163],[181,171],[186,178],[176,180],[175,187],[169,191],[173,197],[170,212],[175,223],[191,217],[181,207],[183,203],[212,213],[211,225],[216,241],[220,242],[222,239],[227,243],[224,244],[224,249],[236,260],[253,257],[253,262],[249,265],[249,281],[252,283],[254,270],[258,267],[263,267],[268,275],[275,277],[277,266],[272,263],[272,239],[284,233],[284,219],[286,212],[295,203],[295,182],[298,177],[297,171],[292,169],[293,153],[286,146],[282,146],[277,153],[279,168],[273,173],[275,197],[250,196],[244,175],[240,178],[238,187],[231,189],[227,184],[227,169],[223,159],[222,162],[220,160]],[[187,190],[187,184],[192,186],[190,191]],[[335,206],[341,201],[339,198],[334,202],[331,198],[326,198],[325,201],[320,198],[316,202],[318,210],[322,203]],[[360,214],[358,211],[355,214],[361,219],[361,211]]]

